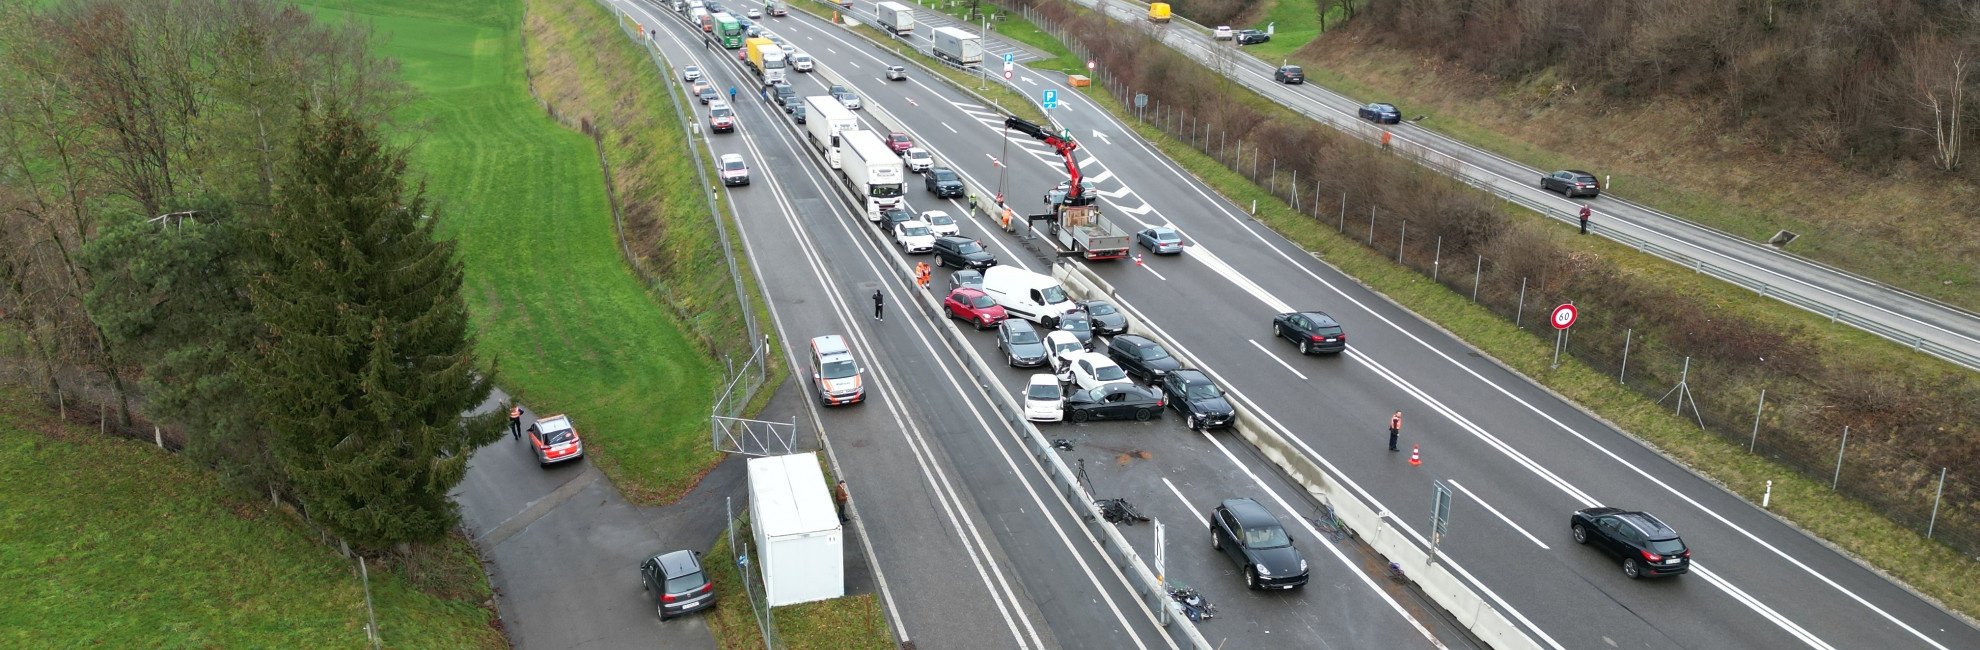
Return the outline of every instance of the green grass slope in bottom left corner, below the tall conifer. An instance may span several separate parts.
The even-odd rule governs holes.
[[[352,561],[192,462],[0,388],[0,646],[362,648]],[[465,539],[372,563],[396,648],[507,648]]]

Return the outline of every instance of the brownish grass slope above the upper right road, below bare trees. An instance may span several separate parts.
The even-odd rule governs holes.
[[[1384,48],[1358,28],[1331,30],[1293,55],[1309,83],[1394,101],[1422,125],[1536,168],[1612,176],[1612,192],[1685,220],[1966,309],[1980,309],[1980,248],[1968,232],[1972,182],[1899,162],[1851,170],[1738,131],[1695,101],[1608,101],[1542,71],[1503,83]],[[1600,206],[1598,206],[1600,210]]]

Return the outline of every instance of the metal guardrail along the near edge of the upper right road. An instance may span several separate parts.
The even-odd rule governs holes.
[[[1101,8],[1105,4],[1123,4],[1123,6],[1133,6],[1133,8],[1146,10],[1146,4],[1144,2],[1137,2],[1137,0],[1071,0],[1071,2],[1087,6],[1087,8]],[[1192,28],[1192,30],[1198,30],[1198,32],[1204,32],[1204,34],[1210,32],[1210,28],[1206,28],[1206,26],[1194,22],[1194,20],[1182,18],[1182,16],[1170,18],[1170,28],[1174,24],[1182,24],[1186,28]],[[1162,30],[1170,30],[1170,28],[1162,28]],[[1164,46],[1180,52],[1186,57],[1190,55],[1188,52],[1184,52],[1184,48],[1172,46],[1166,40],[1162,40],[1160,34],[1156,34],[1156,40],[1162,42]],[[1249,54],[1241,54],[1241,52],[1239,52],[1239,55],[1251,57]],[[1190,59],[1194,59],[1198,63],[1204,63],[1204,61],[1200,61],[1196,57],[1190,57]],[[1251,57],[1251,59],[1255,61],[1257,57]],[[1259,63],[1265,63],[1265,61],[1259,61]],[[1204,65],[1208,65],[1208,63],[1204,63]],[[1356,137],[1356,139],[1360,139],[1364,143],[1378,145],[1378,147],[1382,143],[1380,135],[1382,135],[1384,129],[1380,129],[1380,127],[1374,127],[1374,125],[1368,125],[1368,123],[1360,123],[1360,121],[1344,121],[1344,117],[1333,115],[1333,113],[1311,111],[1311,109],[1307,109],[1305,105],[1301,105],[1297,101],[1289,101],[1289,99],[1281,97],[1283,89],[1277,89],[1277,87],[1259,87],[1259,85],[1251,83],[1249,79],[1234,79],[1234,81],[1238,81],[1239,85],[1251,89],[1253,93],[1263,95],[1265,99],[1271,99],[1273,103],[1277,103],[1277,105],[1281,105],[1281,107],[1285,107],[1285,109],[1289,109],[1293,113],[1299,113],[1299,115],[1305,115],[1307,119],[1313,119],[1313,121],[1325,123],[1329,127],[1335,127],[1336,131],[1352,135],[1352,137]],[[1445,137],[1445,139],[1449,139],[1449,137]],[[1434,149],[1424,147],[1420,143],[1410,143],[1410,141],[1402,141],[1402,139],[1394,139],[1394,137],[1392,137],[1390,149],[1398,151],[1398,153],[1404,153],[1404,155],[1410,155],[1418,164],[1436,168],[1436,170],[1443,172],[1445,176],[1451,176],[1451,178],[1457,178],[1457,180],[1461,180],[1461,182],[1465,182],[1469,186],[1487,190],[1493,196],[1499,196],[1501,200],[1505,200],[1509,204],[1515,204],[1515,206],[1521,206],[1521,208],[1525,208],[1529,212],[1534,212],[1534,214],[1540,214],[1540,216],[1546,216],[1546,218],[1554,218],[1554,220],[1560,220],[1560,222],[1572,222],[1574,220],[1574,214],[1568,214],[1564,210],[1556,210],[1556,208],[1544,206],[1538,200],[1533,200],[1529,196],[1511,194],[1511,192],[1499,192],[1493,186],[1493,182],[1495,180],[1503,180],[1503,176],[1493,174],[1493,172],[1489,172],[1485,168],[1479,168],[1477,164],[1463,162],[1463,161],[1457,161],[1455,157],[1449,157],[1445,153],[1434,151]],[[1489,157],[1495,157],[1495,159],[1503,161],[1503,157],[1497,157],[1497,155],[1493,155],[1489,151],[1481,151],[1481,149],[1475,149],[1475,147],[1473,147],[1473,151],[1479,151],[1483,155],[1489,155]],[[1451,162],[1439,162],[1439,161],[1434,161],[1434,157],[1443,157],[1443,159],[1449,159]],[[1655,210],[1647,210],[1647,208],[1645,208],[1645,212],[1651,212],[1657,218],[1679,220],[1677,216],[1667,216],[1667,214],[1661,214],[1661,212],[1655,212]],[[1731,234],[1725,234],[1725,232],[1721,232],[1717,228],[1711,228],[1711,226],[1703,226],[1703,224],[1695,224],[1695,222],[1685,222],[1685,224],[1707,228],[1707,230],[1719,232],[1721,236],[1732,238]],[[1948,363],[1954,363],[1954,365],[1960,365],[1960,367],[1966,367],[1966,369],[1972,369],[1972,371],[1980,371],[1980,355],[1966,353],[1966,351],[1948,347],[1944,343],[1929,341],[1925,337],[1901,331],[1901,329],[1891,327],[1887,323],[1863,317],[1863,315],[1859,315],[1855,311],[1843,311],[1839,307],[1833,307],[1833,305],[1828,305],[1828,303],[1822,303],[1822,301],[1814,301],[1814,299],[1810,299],[1806,295],[1800,295],[1800,293],[1794,293],[1794,291],[1782,291],[1776,285],[1768,285],[1764,281],[1754,281],[1752,277],[1746,277],[1742,273],[1734,273],[1729,268],[1721,268],[1721,266],[1703,262],[1703,260],[1699,260],[1695,256],[1683,254],[1683,252],[1667,248],[1667,246],[1651,244],[1651,242],[1647,242],[1643,238],[1624,234],[1624,232],[1620,232],[1616,228],[1602,228],[1600,224],[1592,224],[1592,228],[1596,228],[1600,234],[1604,234],[1604,236],[1608,236],[1608,238],[1612,238],[1616,242],[1628,244],[1628,246],[1632,246],[1632,248],[1635,248],[1639,252],[1657,256],[1657,258],[1661,258],[1665,262],[1689,268],[1693,271],[1711,275],[1715,279],[1740,285],[1744,289],[1760,293],[1762,297],[1772,297],[1772,299],[1778,299],[1782,303],[1800,307],[1804,311],[1810,311],[1810,313],[1816,313],[1816,315],[1824,315],[1832,323],[1843,323],[1843,325],[1867,331],[1871,335],[1889,339],[1893,343],[1911,347],[1913,351],[1927,353],[1927,355],[1944,359]],[[1782,254],[1782,256],[1786,256],[1786,254]],[[1822,264],[1822,262],[1814,262],[1814,260],[1808,260],[1808,258],[1796,258],[1796,260],[1820,266],[1824,270],[1830,270],[1830,271],[1839,273],[1839,275],[1847,275],[1847,277],[1863,281],[1863,283],[1871,283],[1871,285],[1877,285],[1877,287],[1883,287],[1883,289],[1899,291],[1899,293],[1905,293],[1905,295],[1921,299],[1921,301],[1932,301],[1932,303],[1938,303],[1938,305],[1942,305],[1946,309],[1954,309],[1954,311],[1966,313],[1966,309],[1960,309],[1960,307],[1954,307],[1954,305],[1946,305],[1944,301],[1936,301],[1936,299],[1930,299],[1930,297],[1925,297],[1925,295],[1919,295],[1919,293],[1913,293],[1913,291],[1891,287],[1887,283],[1873,281],[1873,279],[1867,279],[1863,275],[1849,273],[1845,270],[1837,270],[1837,268]]]

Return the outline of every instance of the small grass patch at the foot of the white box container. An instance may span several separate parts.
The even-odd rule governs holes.
[[[744,527],[739,535],[746,537],[748,529]],[[742,579],[737,575],[735,559],[729,555],[729,543],[717,539],[709,547],[709,553],[701,557],[701,565],[713,575],[715,593],[731,595],[717,600],[715,608],[707,612],[709,630],[715,632],[715,646],[723,650],[762,648],[762,632],[756,628],[756,616],[750,614],[748,600],[742,596]],[[893,648],[893,632],[887,630],[887,618],[881,614],[879,596],[875,595],[786,604],[774,608],[772,616],[776,620],[776,634],[784,638],[784,648],[790,650]]]

